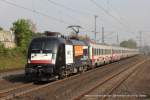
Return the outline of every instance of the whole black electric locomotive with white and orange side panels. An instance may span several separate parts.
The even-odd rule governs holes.
[[[58,36],[34,38],[28,49],[25,74],[38,81],[64,78],[90,66],[88,44]]]

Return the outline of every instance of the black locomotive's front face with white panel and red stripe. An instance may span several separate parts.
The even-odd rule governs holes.
[[[32,40],[25,67],[25,75],[36,81],[48,81],[57,78],[55,61],[57,41],[54,38],[35,38]]]

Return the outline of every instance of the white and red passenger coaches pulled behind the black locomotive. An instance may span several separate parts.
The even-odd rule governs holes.
[[[118,61],[123,58],[138,54],[137,49],[128,49],[117,46],[107,46],[102,44],[90,43],[89,57],[93,66]]]

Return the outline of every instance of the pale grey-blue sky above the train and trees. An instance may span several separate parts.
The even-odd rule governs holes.
[[[0,26],[6,30],[20,18],[30,19],[37,31],[46,30],[68,35],[69,25],[80,25],[80,34],[94,39],[94,15],[97,15],[97,40],[102,26],[105,42],[115,44],[134,39],[149,45],[150,0],[0,0]],[[139,43],[139,42],[138,42]]]

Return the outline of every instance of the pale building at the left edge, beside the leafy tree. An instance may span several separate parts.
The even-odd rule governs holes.
[[[0,42],[4,44],[5,48],[14,48],[15,35],[12,31],[0,31]]]

